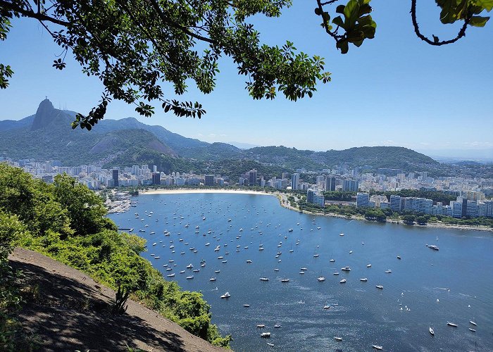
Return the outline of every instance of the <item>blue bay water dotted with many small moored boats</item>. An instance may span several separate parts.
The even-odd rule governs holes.
[[[273,196],[156,194],[135,199],[137,207],[110,217],[147,240],[142,256],[165,277],[174,272],[170,279],[183,289],[204,294],[213,322],[222,334],[232,334],[235,351],[372,351],[373,344],[384,351],[493,351],[490,232],[306,215],[282,208]],[[260,244],[263,251],[258,251]],[[436,244],[439,251],[425,244]],[[220,250],[214,251],[217,245]],[[275,258],[277,251],[282,254]],[[200,272],[186,269],[190,263]],[[172,270],[166,271],[166,264]],[[345,266],[351,272],[342,271]],[[300,275],[300,268],[308,270]],[[185,279],[188,275],[194,279]],[[325,282],[317,281],[320,276]],[[261,282],[260,277],[270,280]],[[341,279],[347,282],[341,284]],[[221,299],[226,291],[231,297]],[[325,305],[331,308],[324,310]],[[476,332],[469,331],[469,320],[477,322]],[[458,327],[447,326],[448,321]],[[258,329],[258,324],[266,327]],[[261,338],[261,332],[270,332],[270,339]]]

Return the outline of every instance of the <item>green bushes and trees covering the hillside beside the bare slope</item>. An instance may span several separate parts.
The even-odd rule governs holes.
[[[145,241],[118,233],[105,214],[102,199],[67,175],[45,184],[19,168],[0,163],[1,341],[18,344],[10,317],[15,317],[20,302],[13,276],[4,275],[7,253],[16,245],[39,251],[119,290],[116,306],[120,312],[125,309],[126,293],[132,292],[133,298],[192,334],[228,346],[231,337],[220,337],[216,325],[211,324],[210,307],[202,295],[182,291],[175,282],[163,279],[139,256]]]

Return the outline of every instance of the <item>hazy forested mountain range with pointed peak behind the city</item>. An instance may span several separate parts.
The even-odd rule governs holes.
[[[274,173],[297,168],[321,170],[336,165],[368,171],[377,168],[430,171],[440,165],[424,154],[395,146],[367,146],[342,151],[309,151],[285,146],[239,149],[232,144],[207,143],[183,137],[135,118],[104,119],[90,132],[80,128],[72,130],[70,122],[75,114],[58,110],[45,99],[35,115],[22,120],[0,121],[0,152],[14,160],[59,160],[68,166],[92,163],[111,167],[149,163],[158,165],[158,170],[164,172],[200,170],[229,173],[251,167]]]

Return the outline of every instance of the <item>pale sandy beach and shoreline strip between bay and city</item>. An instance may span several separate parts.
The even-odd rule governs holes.
[[[375,222],[371,220],[366,220],[364,217],[359,217],[355,215],[351,215],[350,218],[348,218],[346,215],[340,215],[340,214],[334,214],[334,213],[314,213],[312,211],[307,211],[307,210],[299,210],[299,208],[294,208],[289,204],[289,201],[287,200],[287,194],[281,193],[281,192],[273,192],[273,193],[268,193],[266,191],[246,191],[242,189],[155,189],[155,190],[149,190],[149,191],[142,191],[140,193],[141,195],[146,195],[146,194],[198,194],[198,193],[219,193],[219,194],[251,194],[251,195],[258,195],[258,196],[275,196],[280,203],[280,206],[282,208],[286,208],[289,210],[294,210],[297,211],[298,213],[304,213],[308,215],[319,215],[319,216],[328,216],[330,218],[343,218],[343,219],[348,219],[348,220],[359,220],[359,221],[366,221],[366,222]],[[394,219],[387,219],[385,220],[385,223],[389,224],[394,224],[394,225],[406,225],[410,227],[420,227],[420,228],[426,228],[426,227],[435,227],[435,228],[442,228],[442,229],[453,229],[453,230],[470,230],[470,231],[482,231],[482,232],[493,232],[493,228],[490,227],[485,227],[485,226],[480,226],[480,227],[475,227],[475,226],[470,226],[470,225],[449,225],[449,224],[442,224],[442,223],[437,223],[437,222],[428,222],[427,225],[407,225],[404,224],[403,220],[394,220]]]

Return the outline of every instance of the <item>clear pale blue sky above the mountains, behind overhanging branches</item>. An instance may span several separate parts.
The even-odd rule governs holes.
[[[485,28],[469,28],[456,44],[435,47],[414,34],[410,1],[374,0],[375,39],[342,55],[313,13],[316,1],[294,2],[281,18],[252,21],[268,44],[289,39],[301,51],[325,57],[332,82],[320,84],[313,99],[254,101],[244,89],[245,77],[224,58],[212,94],[191,87],[183,96],[204,105],[207,114],[201,120],[159,110],[142,118],[118,101],[111,103],[106,118],[132,116],[206,142],[314,150],[395,145],[430,153],[493,149],[493,20]],[[454,37],[457,26],[441,25],[438,15],[435,1],[418,1],[422,31]],[[72,58],[65,70],[52,68],[60,53],[34,20],[15,21],[6,42],[0,42],[0,62],[15,71],[11,87],[0,91],[1,120],[35,113],[44,96],[57,108],[87,113],[94,106],[101,84],[82,75]]]

